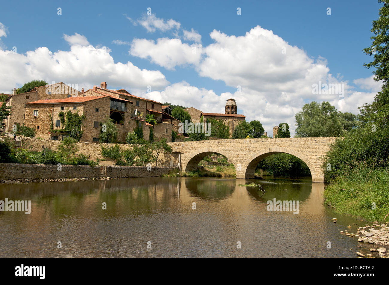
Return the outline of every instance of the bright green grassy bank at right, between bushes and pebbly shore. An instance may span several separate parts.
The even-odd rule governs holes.
[[[326,186],[324,199],[324,203],[336,213],[387,222],[389,215],[384,218],[389,213],[388,168],[372,169],[360,165]]]

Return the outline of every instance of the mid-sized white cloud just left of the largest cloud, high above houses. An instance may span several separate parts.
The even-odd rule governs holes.
[[[201,44],[182,43],[180,39],[161,38],[154,40],[134,39],[130,55],[149,58],[166,69],[174,70],[177,65],[198,65],[202,54]]]

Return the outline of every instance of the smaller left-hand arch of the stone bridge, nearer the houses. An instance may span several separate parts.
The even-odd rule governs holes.
[[[221,150],[220,148],[199,148],[196,151],[186,154],[184,158],[181,157],[182,170],[183,171],[195,170],[200,160],[210,155],[211,153],[220,153],[221,155],[224,155],[225,157],[227,157],[228,160],[230,160],[234,164],[235,169],[237,169],[237,162],[235,161],[235,158],[228,151]]]

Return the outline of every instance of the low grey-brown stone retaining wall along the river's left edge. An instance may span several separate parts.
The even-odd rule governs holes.
[[[150,168],[149,168],[150,169]],[[11,164],[0,163],[0,182],[82,179],[82,178],[128,178],[128,177],[160,177],[170,171],[169,167],[145,166],[95,166],[44,164]]]

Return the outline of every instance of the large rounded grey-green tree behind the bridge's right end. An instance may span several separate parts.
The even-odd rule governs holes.
[[[338,113],[329,102],[305,104],[295,117],[296,137],[336,137],[343,134]]]

